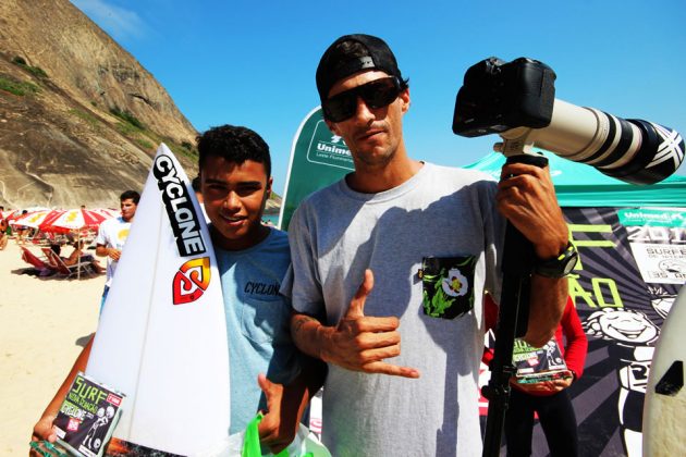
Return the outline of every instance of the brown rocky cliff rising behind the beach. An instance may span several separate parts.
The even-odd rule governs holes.
[[[0,205],[118,206],[164,141],[195,175],[195,128],[68,0],[0,0]]]

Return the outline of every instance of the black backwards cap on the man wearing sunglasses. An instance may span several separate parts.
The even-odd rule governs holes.
[[[360,49],[352,51],[354,45]],[[344,35],[329,46],[317,66],[319,99],[329,98],[329,90],[338,81],[363,70],[379,70],[403,82],[395,55],[385,41],[371,35]]]

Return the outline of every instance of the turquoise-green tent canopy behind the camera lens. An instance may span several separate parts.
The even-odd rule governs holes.
[[[542,152],[550,163],[550,173],[555,185],[561,207],[665,207],[686,208],[686,177],[670,176],[652,185],[635,185],[607,176],[592,166]],[[499,152],[465,169],[480,170],[494,178],[505,157]]]

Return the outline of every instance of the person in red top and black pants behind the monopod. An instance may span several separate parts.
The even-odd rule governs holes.
[[[483,307],[487,329],[492,329],[498,321],[498,307],[488,295]],[[531,455],[535,413],[538,415],[551,455],[578,455],[576,415],[567,387],[584,373],[588,339],[569,297],[554,339],[568,373],[560,379],[530,384],[518,383],[516,376],[510,380],[512,390],[504,428],[509,457]],[[483,362],[488,365],[492,358],[493,349],[487,348]]]

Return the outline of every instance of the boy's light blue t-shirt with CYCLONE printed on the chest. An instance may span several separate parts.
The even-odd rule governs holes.
[[[291,339],[291,304],[279,294],[291,263],[287,237],[275,228],[243,250],[215,247],[219,267],[231,363],[231,430],[238,433],[266,409],[257,375],[287,384],[301,371]]]

